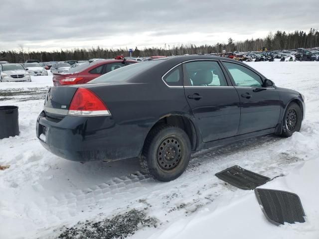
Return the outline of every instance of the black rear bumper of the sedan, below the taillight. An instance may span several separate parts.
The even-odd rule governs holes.
[[[52,120],[42,112],[36,136],[48,151],[72,161],[113,161],[137,157],[141,148],[132,127],[115,124],[111,116],[65,116]],[[136,129],[134,129],[135,131]]]

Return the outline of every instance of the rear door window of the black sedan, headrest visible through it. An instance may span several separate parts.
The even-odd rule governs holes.
[[[227,86],[217,61],[193,61],[184,63],[185,86]]]

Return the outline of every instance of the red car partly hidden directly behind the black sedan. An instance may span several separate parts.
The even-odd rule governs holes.
[[[66,73],[53,73],[54,86],[84,84],[118,68],[137,63],[134,60],[99,60],[71,68]]]

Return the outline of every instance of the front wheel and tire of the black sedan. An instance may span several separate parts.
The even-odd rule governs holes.
[[[301,122],[303,120],[303,113],[300,106],[296,103],[291,103],[287,107],[287,110],[283,119],[283,131],[282,136],[290,137],[294,132],[297,132],[301,128]]]

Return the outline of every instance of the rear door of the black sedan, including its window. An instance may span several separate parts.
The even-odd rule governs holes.
[[[183,84],[204,142],[236,135],[240,101],[218,61],[183,63]]]

